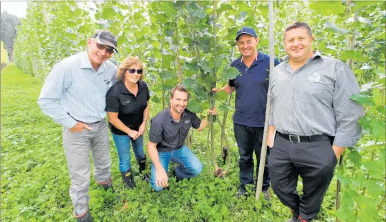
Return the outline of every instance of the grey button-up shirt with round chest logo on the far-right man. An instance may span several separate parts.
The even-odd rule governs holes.
[[[282,134],[335,136],[334,145],[351,147],[361,138],[363,106],[350,99],[359,84],[347,64],[318,51],[292,71],[288,58],[269,76],[269,125]]]

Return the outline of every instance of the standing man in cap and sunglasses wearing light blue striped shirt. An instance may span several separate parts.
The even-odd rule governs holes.
[[[77,221],[93,221],[88,210],[90,150],[97,184],[112,189],[105,99],[110,84],[116,82],[117,68],[108,61],[114,52],[118,52],[116,38],[107,30],[97,30],[87,39],[87,51],[53,66],[38,99],[43,112],[63,125],[69,193]]]

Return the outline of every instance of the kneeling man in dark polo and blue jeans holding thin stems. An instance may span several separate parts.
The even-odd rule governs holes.
[[[209,121],[200,120],[194,112],[186,109],[189,93],[184,86],[176,86],[170,91],[170,107],[162,110],[152,119],[147,151],[152,159],[150,182],[154,190],[168,186],[167,169],[169,162],[179,164],[174,173],[177,179],[191,178],[200,174],[202,164],[197,156],[184,145],[191,127],[204,130]],[[208,114],[217,114],[216,108]]]

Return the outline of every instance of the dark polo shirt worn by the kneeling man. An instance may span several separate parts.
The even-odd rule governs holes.
[[[197,114],[187,109],[184,110],[180,122],[177,123],[171,117],[170,108],[167,108],[152,119],[149,140],[157,144],[157,150],[160,152],[178,149],[184,145],[191,127],[197,129],[200,124],[201,120]]]

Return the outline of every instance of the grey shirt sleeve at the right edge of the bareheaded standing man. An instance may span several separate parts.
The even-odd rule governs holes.
[[[333,94],[333,107],[337,121],[334,145],[352,147],[361,138],[362,127],[358,121],[364,115],[363,106],[350,97],[360,92],[354,73],[347,64],[338,62],[337,80]]]

